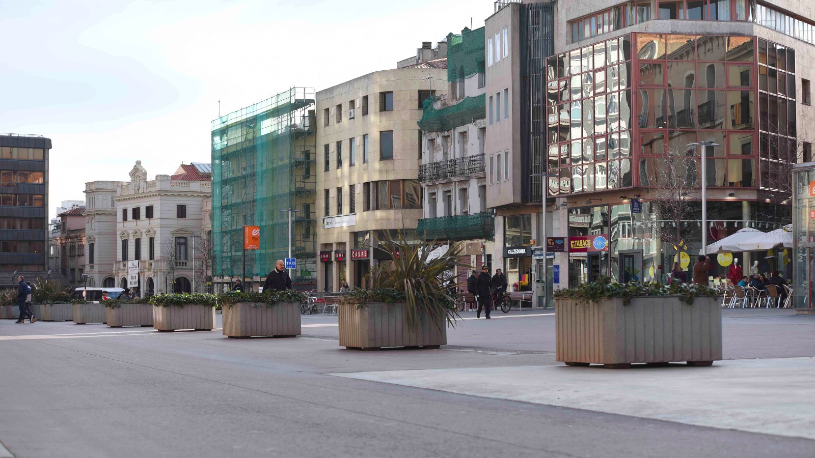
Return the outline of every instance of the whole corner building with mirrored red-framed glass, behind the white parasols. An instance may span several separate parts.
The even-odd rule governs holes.
[[[548,235],[572,245],[556,255],[561,285],[600,275],[665,281],[674,259],[689,269],[703,231],[710,244],[743,227],[791,222],[791,164],[811,160],[815,129],[815,69],[802,64],[815,57],[813,3],[553,6],[553,52],[540,68],[547,75],[546,191],[557,203]],[[523,7],[496,16],[503,11]],[[487,36],[493,32],[488,21]],[[494,67],[487,67],[488,89]],[[499,138],[487,128],[488,149]],[[513,171],[523,188],[528,170]],[[730,254],[714,261],[711,275],[740,258],[742,266],[791,276],[786,250]]]

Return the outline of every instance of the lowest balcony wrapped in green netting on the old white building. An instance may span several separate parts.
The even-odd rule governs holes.
[[[491,212],[423,218],[416,234],[422,240],[492,240],[495,236],[495,218]]]

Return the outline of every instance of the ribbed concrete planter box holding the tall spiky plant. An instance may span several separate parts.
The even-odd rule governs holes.
[[[411,329],[405,319],[405,304],[370,303],[357,308],[355,304],[341,304],[340,346],[349,349],[378,350],[389,346],[438,348],[447,345],[447,322],[418,317],[418,326]]]

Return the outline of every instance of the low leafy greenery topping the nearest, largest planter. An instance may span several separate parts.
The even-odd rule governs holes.
[[[601,277],[597,281],[580,284],[574,288],[558,289],[554,293],[556,299],[577,299],[579,302],[600,302],[603,299],[623,298],[623,304],[628,306],[634,297],[667,297],[679,296],[682,302],[693,304],[698,296],[719,297],[721,293],[707,285],[700,284],[661,284],[656,282],[615,283],[609,277]]]

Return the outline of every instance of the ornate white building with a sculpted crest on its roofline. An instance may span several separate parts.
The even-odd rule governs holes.
[[[147,170],[136,161],[130,170],[130,182],[120,183],[113,196],[115,231],[106,234],[104,242],[99,232],[94,234],[93,243],[104,245],[110,244],[112,236],[116,247],[112,278],[119,288],[130,288],[145,296],[204,291],[208,274],[200,251],[209,237],[202,233],[202,227],[205,202],[212,196],[211,174],[209,164],[193,163],[180,165],[173,175],[156,175],[148,180]],[[90,205],[89,224],[93,208]],[[108,218],[99,222],[109,225]],[[129,262],[139,262],[137,286],[128,286]],[[107,283],[103,280],[103,286]]]

